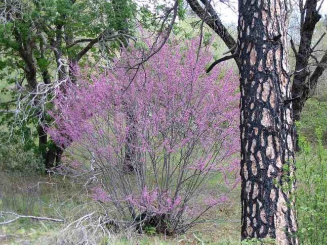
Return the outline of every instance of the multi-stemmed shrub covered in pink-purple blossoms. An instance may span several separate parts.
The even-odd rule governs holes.
[[[52,138],[101,183],[94,200],[140,231],[183,232],[235,185],[238,78],[223,67],[206,74],[212,56],[197,56],[197,44],[167,43],[143,65],[140,51],[123,54],[109,74],[79,74],[55,102]]]

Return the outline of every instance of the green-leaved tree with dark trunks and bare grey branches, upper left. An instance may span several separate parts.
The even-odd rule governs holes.
[[[7,113],[2,124],[18,128],[36,124],[38,147],[47,151],[48,168],[55,159],[60,162],[62,153],[44,130],[50,122],[45,111],[51,107],[54,88],[74,79],[68,71],[77,64],[87,61],[90,66],[113,57],[119,43],[131,38],[127,30],[132,30],[135,10],[136,4],[129,0],[2,2],[1,78],[15,84],[13,91],[7,90],[12,99],[1,104]]]

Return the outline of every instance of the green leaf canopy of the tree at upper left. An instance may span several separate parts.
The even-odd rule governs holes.
[[[0,127],[2,130],[11,131],[14,137],[20,137],[20,141],[25,142],[22,151],[32,148],[34,151],[36,148],[34,139],[37,137],[35,125],[39,124],[37,116],[43,108],[42,106],[37,108],[38,105],[34,108],[25,104],[19,105],[21,110],[29,112],[27,116],[22,116],[23,113],[19,110],[14,111],[18,106],[18,98],[22,99],[26,96],[31,88],[26,86],[26,76],[33,74],[31,67],[32,70],[36,69],[33,78],[37,82],[45,82],[45,74],[48,77],[47,82],[53,82],[58,78],[56,72],[58,57],[67,62],[74,61],[89,40],[100,35],[110,36],[120,31],[133,35],[137,5],[133,0],[18,0],[14,2],[7,1],[4,6],[11,8],[11,4],[14,3],[16,9],[19,6],[19,11],[11,13],[6,20],[0,18],[0,50],[4,51],[0,55]],[[88,41],[73,45],[74,41],[85,38]],[[120,42],[104,41],[106,41],[105,50],[100,51],[98,46],[92,47],[81,58],[79,65],[90,66],[99,62],[103,55],[113,57]],[[17,89],[18,87],[22,89]],[[51,107],[51,103],[46,104],[45,111],[49,109],[48,107]],[[44,117],[42,121],[45,125],[51,122],[49,115],[46,114]],[[7,136],[3,136],[0,135],[2,142],[7,140]],[[21,145],[18,146],[16,143],[2,148],[2,152],[5,149],[12,151],[16,147],[19,149]],[[51,142],[39,150],[45,151],[51,146],[50,144]],[[13,161],[16,161],[15,158]],[[17,161],[21,162],[23,159]],[[20,164],[13,164],[13,169],[17,168],[16,165]]]

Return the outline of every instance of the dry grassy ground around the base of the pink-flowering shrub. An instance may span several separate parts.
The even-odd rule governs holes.
[[[21,215],[73,219],[90,210],[87,189],[63,176],[0,173],[0,210]],[[230,193],[230,201],[210,210],[211,221],[194,226],[180,236],[117,234],[103,244],[240,244],[239,186]],[[81,211],[83,209],[83,211]],[[74,214],[74,215],[72,215]],[[21,218],[0,226],[0,244],[49,244],[67,224]]]

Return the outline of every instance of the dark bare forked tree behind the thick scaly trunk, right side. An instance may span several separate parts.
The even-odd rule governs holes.
[[[291,39],[295,56],[295,71],[292,84],[294,120],[299,121],[305,102],[315,91],[317,82],[327,67],[326,47],[320,46],[324,31],[314,42],[317,24],[321,19],[319,10],[323,1],[307,0],[296,2],[293,8],[299,7],[299,43]],[[324,28],[325,29],[325,28]],[[298,46],[298,47],[297,47]],[[295,144],[298,148],[298,144]]]

